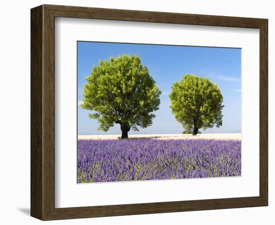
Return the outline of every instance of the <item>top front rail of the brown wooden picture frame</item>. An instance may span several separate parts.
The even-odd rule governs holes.
[[[200,15],[157,11],[138,11],[110,8],[91,8],[64,5],[44,5],[55,16],[93,18],[139,22],[159,22],[191,25],[260,28],[264,19],[218,15]]]

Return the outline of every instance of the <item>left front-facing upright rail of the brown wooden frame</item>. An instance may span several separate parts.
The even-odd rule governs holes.
[[[43,215],[54,210],[54,15],[43,7]]]

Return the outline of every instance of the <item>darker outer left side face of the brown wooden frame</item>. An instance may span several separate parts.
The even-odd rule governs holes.
[[[30,215],[42,217],[42,6],[30,13]]]

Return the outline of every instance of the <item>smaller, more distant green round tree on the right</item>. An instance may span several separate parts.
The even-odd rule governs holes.
[[[223,97],[208,78],[185,74],[173,83],[169,97],[172,113],[187,133],[196,135],[199,128],[222,125]]]

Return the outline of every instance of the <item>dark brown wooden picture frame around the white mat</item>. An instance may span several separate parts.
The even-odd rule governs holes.
[[[31,199],[33,217],[67,219],[220,208],[265,206],[268,203],[267,19],[40,5],[31,15]],[[138,204],[54,207],[54,17],[110,19],[192,25],[259,28],[259,196]]]

